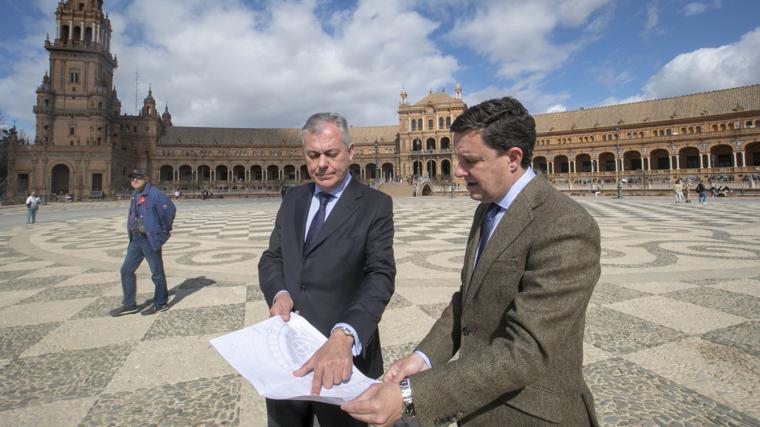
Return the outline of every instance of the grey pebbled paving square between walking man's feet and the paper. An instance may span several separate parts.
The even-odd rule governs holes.
[[[245,304],[169,310],[158,314],[144,339],[229,332],[242,328],[244,319]]]

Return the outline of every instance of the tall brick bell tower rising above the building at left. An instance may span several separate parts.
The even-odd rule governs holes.
[[[34,106],[35,144],[106,145],[121,104],[112,90],[117,61],[103,0],[61,1],[55,17],[55,39],[45,40],[50,68]]]

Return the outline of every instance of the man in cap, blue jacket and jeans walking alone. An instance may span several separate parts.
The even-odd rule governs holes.
[[[150,185],[148,175],[143,170],[135,169],[129,174],[129,179],[134,192],[127,216],[129,245],[121,266],[121,288],[124,296],[121,307],[112,310],[111,316],[133,314],[142,309],[136,301],[135,271],[143,259],[148,261],[155,287],[153,304],[142,312],[148,316],[169,309],[169,292],[161,248],[169,240],[177,210],[163,191]]]

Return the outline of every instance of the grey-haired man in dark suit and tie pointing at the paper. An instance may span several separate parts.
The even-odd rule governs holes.
[[[391,198],[349,173],[354,145],[346,120],[311,116],[301,130],[313,183],[290,188],[277,212],[259,282],[270,315],[298,312],[329,337],[293,374],[314,373],[312,395],[350,378],[352,365],[383,373],[378,323],[394,290]],[[338,406],[267,399],[270,426],[364,426]]]

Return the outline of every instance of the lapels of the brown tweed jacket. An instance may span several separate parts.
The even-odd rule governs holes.
[[[501,221],[496,226],[491,239],[488,241],[488,244],[486,244],[483,253],[480,255],[478,265],[474,271],[472,271],[465,292],[465,301],[467,298],[470,298],[477,293],[478,288],[482,285],[483,279],[488,273],[488,270],[490,270],[491,265],[501,254],[507,251],[509,245],[511,245],[533,221],[533,209],[541,203],[541,194],[543,193],[542,190],[545,185],[546,183],[543,178],[536,176],[527,186],[525,186],[517,198],[512,202],[509,209],[507,209],[504,217],[502,217]],[[483,215],[485,215],[485,209],[483,209]],[[479,218],[481,223],[483,215]],[[479,237],[480,226],[477,228],[478,233],[476,236]],[[470,263],[470,269],[472,269],[472,263],[474,262],[473,257],[475,256],[475,249],[479,239],[474,238],[471,240],[471,247],[468,248],[471,255],[467,260]]]

